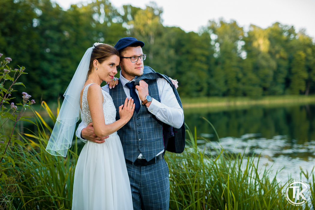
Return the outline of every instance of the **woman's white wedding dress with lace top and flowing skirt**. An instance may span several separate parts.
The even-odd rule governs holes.
[[[81,118],[89,125],[91,115],[87,92],[83,90]],[[109,93],[102,90],[105,124],[115,122],[116,108]],[[74,172],[72,209],[128,210],[133,209],[129,177],[123,147],[117,132],[109,135],[105,143],[87,141]]]

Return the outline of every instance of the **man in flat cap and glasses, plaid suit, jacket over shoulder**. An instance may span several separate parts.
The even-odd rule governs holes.
[[[144,43],[132,37],[120,39],[120,78],[110,93],[119,119],[118,107],[126,96],[134,98],[131,120],[117,131],[126,160],[135,210],[169,209],[169,168],[165,150],[181,153],[185,148],[184,113],[180,98],[170,79],[144,66]],[[77,137],[83,141],[104,142],[95,136],[91,124],[80,124]],[[84,140],[85,139],[85,140]],[[103,141],[101,141],[103,140]],[[123,198],[122,198],[123,199]]]

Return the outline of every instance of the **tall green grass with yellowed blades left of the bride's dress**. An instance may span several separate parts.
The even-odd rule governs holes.
[[[46,111],[51,113],[49,108]],[[55,122],[55,117],[51,117]],[[77,140],[68,150],[66,158],[50,155],[45,149],[51,129],[38,113],[36,123],[36,132],[20,134],[24,148],[17,144],[10,146],[9,154],[15,161],[15,170],[8,168],[8,174],[15,176],[20,173],[20,177],[15,182],[19,190],[12,194],[14,199],[6,202],[6,207],[69,209],[72,206],[74,169],[78,158]]]

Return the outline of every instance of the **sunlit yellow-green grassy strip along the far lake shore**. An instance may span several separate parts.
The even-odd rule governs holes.
[[[287,105],[306,105],[315,103],[315,95],[284,95],[284,96],[263,96],[257,99],[250,97],[181,97],[184,109],[209,108],[229,109],[244,108],[261,105],[265,107],[277,107]]]

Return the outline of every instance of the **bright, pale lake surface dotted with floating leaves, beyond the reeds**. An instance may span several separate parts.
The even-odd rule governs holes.
[[[277,174],[277,180],[283,183],[287,182],[289,177],[308,182],[303,175],[301,176],[300,167],[304,172],[306,170],[311,172],[314,167],[315,141],[303,144],[289,143],[287,136],[274,136],[271,139],[266,139],[258,137],[257,134],[246,134],[240,138],[222,138],[220,143],[203,143],[200,147],[202,149],[206,147],[209,153],[213,152],[215,148],[221,150],[223,147],[232,154],[261,155],[259,162],[255,161],[258,169],[263,171],[265,167],[271,168],[271,179],[281,169],[281,172]],[[245,158],[243,167],[246,167],[246,163],[247,159]]]

